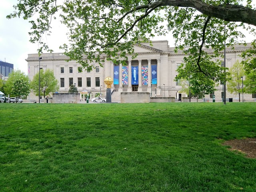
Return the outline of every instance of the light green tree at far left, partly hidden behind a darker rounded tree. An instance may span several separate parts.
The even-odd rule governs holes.
[[[8,94],[12,95],[12,88],[14,87],[14,83],[17,80],[23,79],[22,82],[24,82],[25,84],[29,83],[28,76],[19,69],[13,70],[12,73],[10,73],[8,77],[9,78],[4,85],[4,93],[6,95],[8,95]],[[16,96],[16,94],[14,94],[13,96]]]

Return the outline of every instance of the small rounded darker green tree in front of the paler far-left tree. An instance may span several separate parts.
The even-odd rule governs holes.
[[[17,96],[28,96],[30,90],[29,90],[29,82],[23,78],[18,79],[14,82],[13,86],[12,86],[12,95]]]

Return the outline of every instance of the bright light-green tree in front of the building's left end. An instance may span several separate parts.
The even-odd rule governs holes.
[[[30,82],[30,88],[34,91],[36,96],[39,96],[39,72],[35,74],[32,82]],[[51,92],[59,90],[58,80],[54,77],[53,70],[46,69],[40,70],[40,95],[45,96]]]

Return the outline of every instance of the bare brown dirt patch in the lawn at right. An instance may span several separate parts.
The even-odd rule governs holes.
[[[230,150],[242,152],[248,158],[256,158],[256,138],[229,140],[224,142],[223,145],[231,146]]]

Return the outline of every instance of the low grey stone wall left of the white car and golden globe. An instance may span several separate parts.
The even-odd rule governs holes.
[[[53,93],[52,103],[78,103],[80,93]]]

